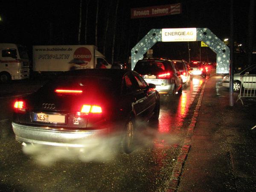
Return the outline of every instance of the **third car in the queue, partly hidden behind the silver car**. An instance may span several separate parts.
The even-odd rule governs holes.
[[[182,78],[183,84],[188,85],[191,77],[191,70],[189,65],[184,60],[172,60],[180,71],[180,76]]]

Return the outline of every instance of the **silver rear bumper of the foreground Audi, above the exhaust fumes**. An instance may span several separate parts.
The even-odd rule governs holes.
[[[95,140],[108,135],[108,129],[100,130],[60,130],[44,127],[20,125],[12,122],[15,138],[20,143],[32,143],[42,145],[64,147],[86,147],[99,145]],[[93,142],[90,142],[93,141]]]

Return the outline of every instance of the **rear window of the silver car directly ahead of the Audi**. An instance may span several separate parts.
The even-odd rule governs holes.
[[[168,70],[170,67],[164,61],[138,61],[134,71],[141,75],[158,75]]]

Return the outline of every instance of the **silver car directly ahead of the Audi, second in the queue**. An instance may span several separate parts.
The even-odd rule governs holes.
[[[182,93],[182,78],[180,71],[172,60],[169,59],[143,59],[134,67],[147,83],[156,85],[160,94],[173,95]]]

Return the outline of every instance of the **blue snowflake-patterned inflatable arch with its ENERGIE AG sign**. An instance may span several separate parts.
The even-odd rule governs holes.
[[[230,49],[208,28],[151,29],[134,48],[131,49],[131,69],[138,60],[157,42],[204,41],[216,53],[216,73],[229,73]]]

